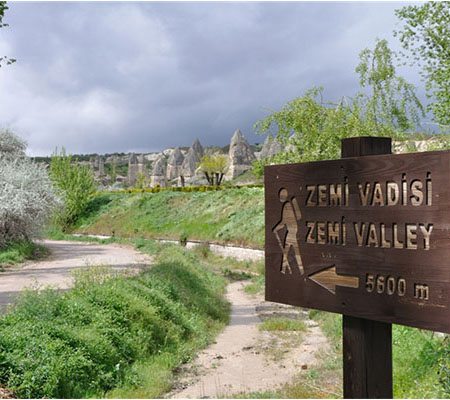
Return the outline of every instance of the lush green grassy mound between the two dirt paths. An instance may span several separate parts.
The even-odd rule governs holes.
[[[138,276],[94,268],[68,292],[28,291],[0,318],[0,385],[18,397],[160,397],[228,318],[226,280],[180,246],[146,241]]]

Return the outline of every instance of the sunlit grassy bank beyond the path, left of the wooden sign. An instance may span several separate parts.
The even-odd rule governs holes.
[[[100,195],[78,232],[264,246],[262,188]]]

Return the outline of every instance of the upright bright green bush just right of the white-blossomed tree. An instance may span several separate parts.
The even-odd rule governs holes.
[[[66,155],[63,148],[52,155],[50,178],[63,206],[57,212],[57,220],[63,230],[67,230],[86,211],[92,200],[95,183],[88,166],[72,162],[72,156]]]

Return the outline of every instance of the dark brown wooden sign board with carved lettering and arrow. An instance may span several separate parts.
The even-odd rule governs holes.
[[[450,333],[450,152],[265,167],[266,300]]]

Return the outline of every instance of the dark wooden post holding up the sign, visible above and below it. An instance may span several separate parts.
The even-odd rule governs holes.
[[[391,154],[391,138],[343,139],[341,156]],[[391,399],[392,324],[343,316],[344,398]]]

